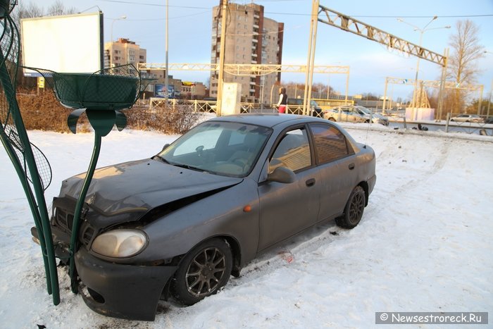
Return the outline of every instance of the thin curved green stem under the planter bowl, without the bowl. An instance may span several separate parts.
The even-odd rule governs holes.
[[[99,158],[99,151],[101,150],[101,135],[99,132],[94,132],[94,149],[92,150],[91,162],[89,163],[89,169],[87,170],[84,183],[82,184],[82,190],[80,191],[79,198],[77,199],[77,205],[75,206],[75,213],[72,225],[72,235],[70,237],[70,287],[72,292],[77,294],[77,280],[75,278],[75,252],[77,251],[77,237],[79,235],[80,228],[80,214],[82,212],[82,206],[84,205],[85,197],[89,185],[91,184],[92,176],[94,175],[94,169]]]

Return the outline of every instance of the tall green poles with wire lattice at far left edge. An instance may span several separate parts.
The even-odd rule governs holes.
[[[30,143],[15,99],[19,63],[19,32],[10,13],[16,1],[0,1],[0,139],[11,159],[39,232],[46,285],[55,305],[60,303],[58,273],[44,190],[51,182],[51,168],[44,154]]]

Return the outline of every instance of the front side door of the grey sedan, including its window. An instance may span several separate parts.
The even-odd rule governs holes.
[[[258,250],[285,240],[314,223],[320,200],[319,175],[313,166],[313,148],[305,127],[282,134],[269,159],[269,172],[277,166],[294,171],[292,183],[261,182],[258,185],[260,232]]]

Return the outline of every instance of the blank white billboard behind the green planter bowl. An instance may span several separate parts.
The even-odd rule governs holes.
[[[103,13],[20,20],[23,66],[65,73],[103,68]],[[26,76],[38,76],[24,70]]]

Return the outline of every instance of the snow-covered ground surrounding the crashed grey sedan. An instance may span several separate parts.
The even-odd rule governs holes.
[[[377,154],[361,223],[313,228],[259,256],[213,297],[189,307],[160,302],[154,323],[94,313],[70,292],[64,271],[61,304],[52,304],[27,201],[0,148],[0,327],[368,328],[377,311],[491,313],[493,137],[344,127]],[[53,168],[50,203],[61,180],[87,170],[93,135],[29,135]],[[98,165],[149,157],[175,138],[113,131]]]

